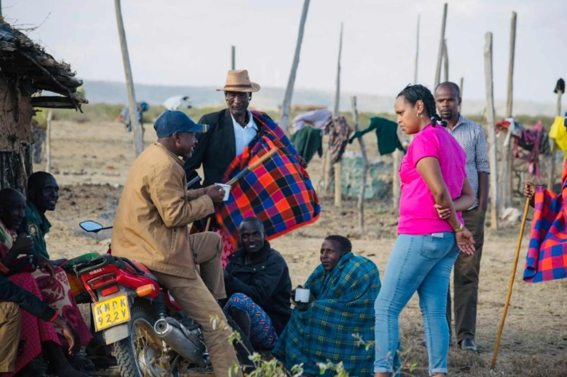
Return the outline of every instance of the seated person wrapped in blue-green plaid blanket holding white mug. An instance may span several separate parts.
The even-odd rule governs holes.
[[[352,377],[370,376],[374,371],[374,301],[380,291],[378,268],[370,259],[353,255],[352,244],[341,235],[325,238],[320,260],[305,285],[298,287],[310,290],[308,303],[293,302],[291,319],[272,353],[288,370],[303,364],[304,376],[321,375],[320,363],[328,362],[342,362]],[[395,371],[400,370],[399,356],[397,352],[393,361]],[[331,367],[322,375],[334,374]]]

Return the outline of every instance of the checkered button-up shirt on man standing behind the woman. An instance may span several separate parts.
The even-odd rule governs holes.
[[[449,130],[449,128],[447,129]],[[449,131],[451,135],[455,136],[467,155],[467,177],[476,198],[475,204],[469,208],[473,209],[479,205],[479,173],[490,174],[486,136],[479,123],[473,122],[460,114],[457,125]]]

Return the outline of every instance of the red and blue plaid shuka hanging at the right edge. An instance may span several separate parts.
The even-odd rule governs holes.
[[[567,163],[561,194],[536,187],[534,219],[526,256],[524,281],[540,282],[567,277]]]

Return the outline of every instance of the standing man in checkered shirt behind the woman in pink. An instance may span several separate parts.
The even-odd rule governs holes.
[[[467,154],[467,176],[476,195],[475,204],[462,213],[464,224],[475,239],[474,255],[459,254],[454,268],[455,332],[461,349],[477,353],[475,344],[476,306],[479,296],[480,258],[483,254],[484,217],[488,204],[488,153],[479,123],[459,114],[459,87],[446,82],[435,89],[435,102],[447,128]],[[447,292],[447,322],[451,330],[451,285]],[[451,331],[450,331],[451,333]]]

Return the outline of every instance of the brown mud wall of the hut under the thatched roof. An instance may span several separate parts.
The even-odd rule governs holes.
[[[26,192],[32,173],[32,116],[31,97],[22,94],[20,80],[0,73],[0,188]]]

